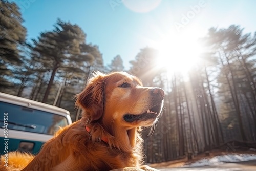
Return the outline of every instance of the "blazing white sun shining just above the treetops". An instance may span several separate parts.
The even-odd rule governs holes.
[[[187,74],[191,68],[200,62],[203,47],[198,36],[183,34],[172,35],[161,39],[155,45],[159,51],[157,65],[165,68],[167,73]]]

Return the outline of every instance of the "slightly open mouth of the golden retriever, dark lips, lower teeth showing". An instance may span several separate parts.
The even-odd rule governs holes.
[[[134,115],[134,114],[126,114],[123,116],[123,119],[126,122],[133,122],[136,120],[149,120],[149,119],[156,119],[158,117],[158,114],[161,112],[162,103],[159,103],[155,105],[151,109],[147,109],[147,111],[140,115]]]

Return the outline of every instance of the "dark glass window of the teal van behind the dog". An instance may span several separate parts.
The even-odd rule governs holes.
[[[59,127],[68,125],[66,117],[0,101],[1,115],[8,113],[8,129],[54,135]],[[4,126],[0,118],[0,127]]]

